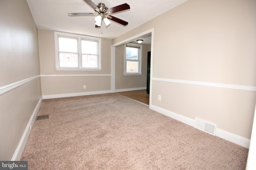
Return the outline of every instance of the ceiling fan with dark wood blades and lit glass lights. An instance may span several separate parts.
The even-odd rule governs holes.
[[[113,8],[107,8],[105,4],[102,2],[99,3],[98,5],[95,5],[91,0],[83,0],[83,1],[86,2],[89,6],[91,6],[94,9],[94,13],[68,13],[68,16],[96,16],[95,27],[101,27],[101,23],[103,20],[106,26],[108,26],[111,23],[110,20],[120,23],[122,25],[128,24],[128,22],[124,20],[121,20],[119,18],[109,15],[109,14],[130,9],[130,6],[128,4],[122,4],[122,5],[115,6]]]

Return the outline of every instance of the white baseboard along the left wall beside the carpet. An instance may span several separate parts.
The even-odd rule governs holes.
[[[31,128],[33,126],[33,123],[36,119],[36,115],[37,115],[37,112],[40,108],[40,105],[42,103],[42,100],[43,98],[41,97],[40,100],[38,101],[37,105],[36,105],[36,108],[34,109],[31,117],[30,117],[30,120],[28,121],[28,124],[26,126],[26,129],[20,139],[20,143],[18,144],[18,147],[16,148],[15,152],[14,152],[14,155],[12,156],[12,160],[11,161],[19,161],[21,156],[22,156],[22,152],[24,150],[24,147],[26,145],[26,142],[28,140],[28,136],[30,134],[30,131],[31,131]]]

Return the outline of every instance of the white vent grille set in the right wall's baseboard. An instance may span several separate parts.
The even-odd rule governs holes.
[[[210,123],[208,121],[204,121],[204,120],[196,118],[194,127],[196,129],[200,129],[201,131],[204,131],[206,133],[210,133],[214,136],[216,134],[217,125],[214,123]]]

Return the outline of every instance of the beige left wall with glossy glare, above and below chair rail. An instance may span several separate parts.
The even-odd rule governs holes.
[[[40,75],[37,27],[26,0],[0,0],[0,88]],[[11,160],[40,101],[40,78],[0,95],[0,160]]]

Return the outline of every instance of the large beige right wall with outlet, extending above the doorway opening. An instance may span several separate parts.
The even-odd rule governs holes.
[[[112,44],[154,28],[152,76],[167,81],[153,80],[152,105],[250,139],[255,91],[168,81],[255,87],[255,9],[255,0],[188,0],[112,39]]]

